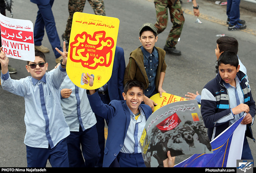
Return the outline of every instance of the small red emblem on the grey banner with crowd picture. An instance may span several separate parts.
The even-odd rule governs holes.
[[[167,117],[164,121],[156,125],[156,127],[161,132],[167,132],[177,127],[180,124],[180,122],[181,122],[181,119],[178,117],[176,113],[174,113],[170,117]]]

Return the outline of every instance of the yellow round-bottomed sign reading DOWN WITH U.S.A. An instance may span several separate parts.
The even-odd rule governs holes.
[[[76,86],[97,89],[110,79],[118,28],[117,18],[75,12],[66,70]],[[87,72],[94,76],[93,86],[82,82],[83,73]]]

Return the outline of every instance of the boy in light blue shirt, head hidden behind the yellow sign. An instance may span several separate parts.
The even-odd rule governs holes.
[[[60,88],[61,107],[70,129],[67,137],[69,167],[95,167],[100,157],[97,121],[86,90],[75,86],[69,76]]]

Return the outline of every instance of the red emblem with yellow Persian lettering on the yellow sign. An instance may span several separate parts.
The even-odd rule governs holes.
[[[96,69],[98,66],[110,66],[114,40],[106,37],[105,31],[94,32],[93,36],[82,32],[70,43],[70,60],[81,62],[83,67]]]

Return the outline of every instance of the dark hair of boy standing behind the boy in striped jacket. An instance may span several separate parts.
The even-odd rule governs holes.
[[[216,43],[219,46],[219,52],[233,51],[235,54],[238,52],[238,41],[234,37],[223,36]]]

